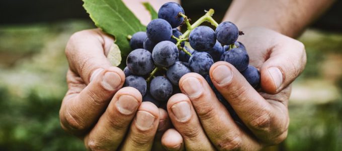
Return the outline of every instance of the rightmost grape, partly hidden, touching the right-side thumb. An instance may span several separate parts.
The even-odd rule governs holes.
[[[252,65],[248,65],[241,74],[254,89],[258,88],[260,84],[260,72],[257,68]]]

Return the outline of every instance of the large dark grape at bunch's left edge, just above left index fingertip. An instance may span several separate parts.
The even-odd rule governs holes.
[[[130,52],[126,64],[129,71],[136,75],[150,73],[154,67],[152,54],[145,49],[135,49]]]

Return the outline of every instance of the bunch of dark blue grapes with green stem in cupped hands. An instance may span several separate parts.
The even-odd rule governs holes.
[[[158,11],[158,19],[152,20],[146,32],[140,31],[131,36],[132,51],[124,68],[125,87],[139,90],[144,101],[156,106],[166,104],[168,98],[179,93],[179,81],[189,72],[201,74],[215,92],[217,98],[232,110],[229,103],[213,86],[209,69],[217,61],[234,65],[255,89],[260,85],[260,72],[249,65],[249,56],[244,45],[238,42],[243,32],[231,22],[217,24],[212,18],[213,10],[193,25],[177,3],[166,3]],[[199,26],[208,21],[216,26],[214,31],[208,26]],[[187,26],[181,33],[177,28]],[[189,42],[190,46],[185,46]]]

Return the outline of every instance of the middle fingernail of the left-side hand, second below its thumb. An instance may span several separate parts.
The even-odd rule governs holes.
[[[116,102],[116,107],[118,111],[122,114],[129,115],[132,114],[138,108],[138,101],[132,96],[121,96]]]

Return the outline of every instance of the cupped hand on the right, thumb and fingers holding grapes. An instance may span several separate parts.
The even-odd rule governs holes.
[[[260,69],[262,91],[254,90],[227,62],[213,64],[210,78],[248,129],[234,122],[201,75],[188,73],[179,83],[184,94],[167,102],[169,117],[186,149],[259,150],[287,137],[290,84],[305,67],[304,46],[265,28],[243,31],[239,41],[246,46],[250,64]]]

